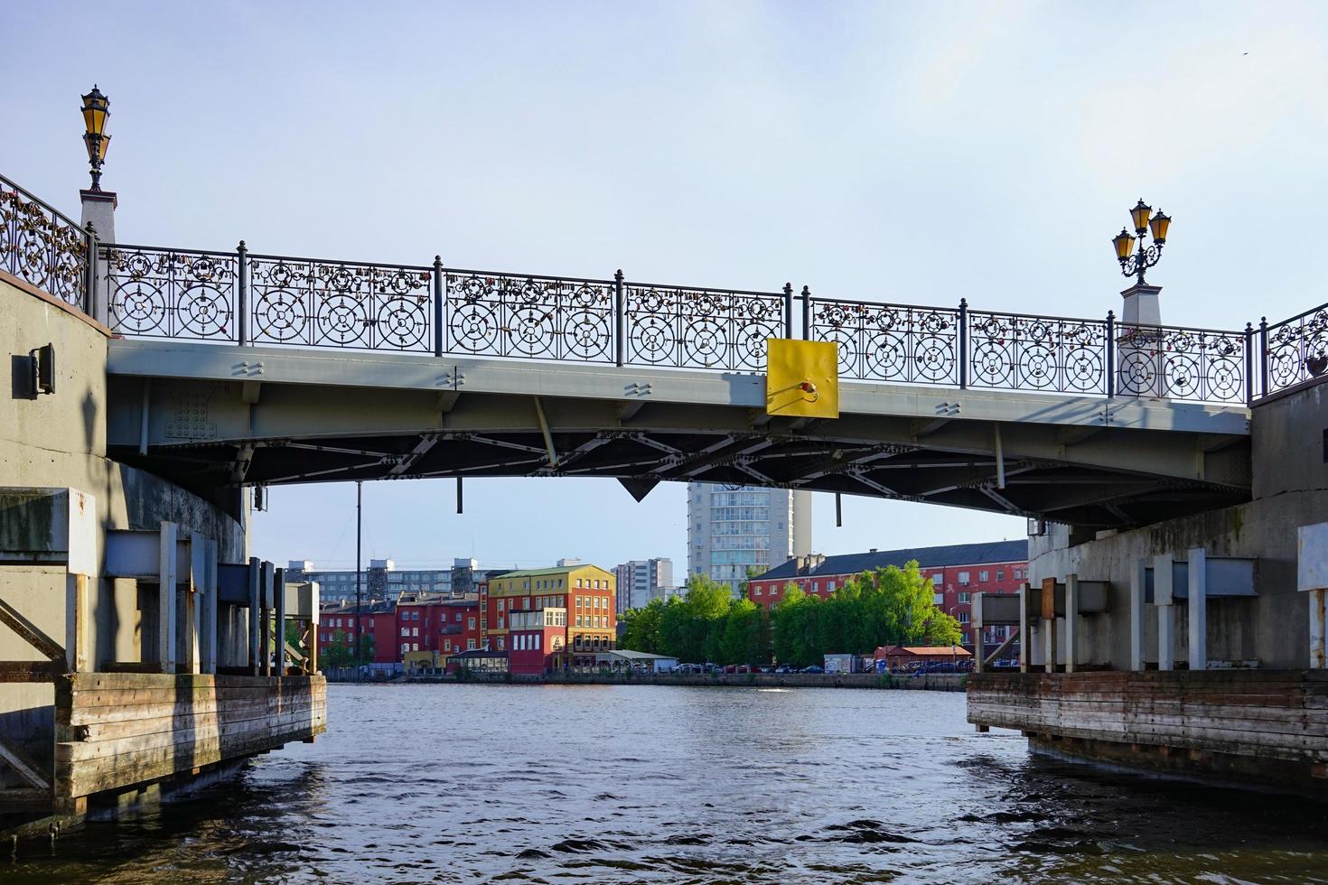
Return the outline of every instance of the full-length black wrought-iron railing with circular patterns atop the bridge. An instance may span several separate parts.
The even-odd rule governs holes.
[[[89,260],[96,255],[98,260]],[[1328,372],[1328,305],[1243,332],[432,264],[98,244],[0,176],[0,269],[124,336],[764,372],[838,345],[846,379],[1252,403]],[[93,305],[89,292],[101,292]],[[102,301],[105,299],[105,303]],[[801,322],[795,303],[801,301]]]

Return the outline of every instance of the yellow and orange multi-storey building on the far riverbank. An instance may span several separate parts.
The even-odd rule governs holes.
[[[559,565],[522,569],[489,580],[482,593],[479,645],[509,650],[511,612],[567,609],[566,657],[562,663],[594,663],[596,651],[607,651],[618,638],[616,579],[598,565]]]

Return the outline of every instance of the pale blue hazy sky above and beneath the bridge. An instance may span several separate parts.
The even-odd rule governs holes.
[[[0,4],[0,172],[77,216],[78,96],[117,239],[1061,316],[1171,218],[1163,322],[1325,300],[1328,4]],[[364,557],[685,564],[683,486],[365,483]],[[355,560],[355,486],[275,488],[258,556]],[[818,496],[826,553],[1023,520]]]

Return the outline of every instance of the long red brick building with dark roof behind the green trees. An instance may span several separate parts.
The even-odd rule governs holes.
[[[973,636],[968,629],[972,594],[1015,593],[1028,580],[1028,540],[1020,539],[794,557],[752,579],[748,598],[770,608],[784,598],[785,588],[790,584],[802,588],[803,593],[826,598],[855,575],[887,565],[903,568],[911,560],[918,561],[918,571],[931,581],[936,605],[959,621],[964,632],[963,642],[969,649],[973,646]],[[987,628],[984,642],[989,646],[1000,645],[1009,629]]]

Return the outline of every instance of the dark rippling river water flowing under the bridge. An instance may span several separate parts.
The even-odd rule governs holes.
[[[0,882],[1328,882],[1328,804],[1032,756],[961,694],[333,685],[328,720]]]

